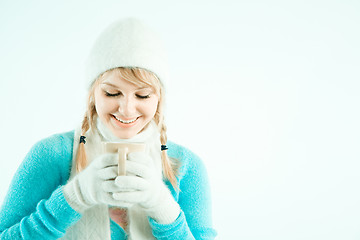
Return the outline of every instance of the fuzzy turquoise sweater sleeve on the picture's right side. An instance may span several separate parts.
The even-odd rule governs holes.
[[[170,157],[181,163],[178,186],[174,191],[168,184],[181,212],[171,224],[158,224],[150,219],[153,234],[157,239],[215,239],[217,233],[212,226],[211,194],[206,168],[201,159],[188,149],[168,143]]]

